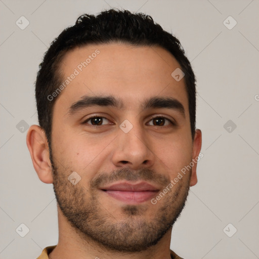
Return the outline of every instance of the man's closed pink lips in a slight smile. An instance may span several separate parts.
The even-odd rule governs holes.
[[[101,190],[112,198],[128,204],[138,204],[150,200],[159,191],[158,188],[147,182],[140,182],[138,184],[128,182],[116,183],[103,187]]]

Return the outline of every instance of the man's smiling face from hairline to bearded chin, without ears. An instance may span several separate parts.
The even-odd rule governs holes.
[[[64,57],[69,82],[53,110],[53,185],[63,216],[83,239],[145,250],[184,207],[196,172],[174,179],[199,150],[184,78],[171,76],[179,67],[159,47],[93,45]]]

